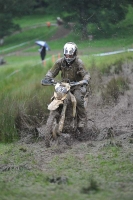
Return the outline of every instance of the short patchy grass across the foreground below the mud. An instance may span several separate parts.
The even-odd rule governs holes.
[[[131,149],[125,152],[123,148],[107,146],[94,154],[81,143],[51,157],[44,171],[37,169],[40,162],[35,157],[36,150],[36,145],[0,145],[2,199],[124,200],[133,197]],[[44,149],[40,151],[43,154]]]

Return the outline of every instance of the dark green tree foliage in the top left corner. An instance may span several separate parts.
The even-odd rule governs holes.
[[[20,17],[32,11],[35,0],[0,0],[0,39],[19,28],[14,17]]]

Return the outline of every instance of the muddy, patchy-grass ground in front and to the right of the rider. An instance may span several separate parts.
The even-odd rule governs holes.
[[[17,200],[20,194],[32,200],[133,198],[133,62],[123,63],[119,75],[112,69],[108,75],[92,73],[87,130],[80,137],[60,136],[46,148],[44,137],[35,140],[31,129],[1,149],[1,195],[7,197],[3,199]],[[117,101],[112,96],[110,103],[103,102],[94,91],[119,76],[128,80],[129,88]],[[45,124],[41,128],[45,135]]]

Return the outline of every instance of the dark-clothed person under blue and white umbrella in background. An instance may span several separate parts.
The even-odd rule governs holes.
[[[35,43],[40,46],[40,49],[39,49],[40,57],[41,57],[43,65],[45,65],[46,51],[50,51],[50,47],[45,41],[36,41]]]

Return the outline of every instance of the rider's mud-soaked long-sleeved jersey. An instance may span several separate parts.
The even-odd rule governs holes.
[[[58,59],[54,66],[47,72],[46,77],[55,78],[60,71],[62,79],[69,79],[75,82],[90,80],[89,72],[86,71],[82,60],[78,57],[70,65],[68,65],[64,57]]]

